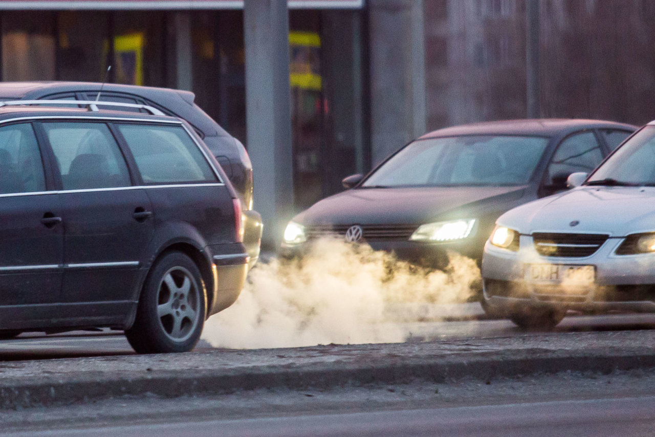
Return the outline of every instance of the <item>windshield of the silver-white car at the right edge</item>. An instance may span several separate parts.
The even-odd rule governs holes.
[[[618,148],[586,184],[655,186],[655,126],[646,126]]]

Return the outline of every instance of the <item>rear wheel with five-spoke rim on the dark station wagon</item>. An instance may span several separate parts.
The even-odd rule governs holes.
[[[125,336],[140,354],[187,352],[200,339],[206,300],[195,262],[178,251],[166,253],[148,273]]]

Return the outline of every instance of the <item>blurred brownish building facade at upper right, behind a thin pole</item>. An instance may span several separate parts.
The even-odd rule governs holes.
[[[540,116],[655,119],[654,0],[536,1]],[[428,129],[525,117],[526,0],[423,3]]]

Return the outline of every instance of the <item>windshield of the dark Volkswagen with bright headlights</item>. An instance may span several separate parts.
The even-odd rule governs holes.
[[[408,144],[362,188],[527,184],[546,150],[538,136],[456,136]]]

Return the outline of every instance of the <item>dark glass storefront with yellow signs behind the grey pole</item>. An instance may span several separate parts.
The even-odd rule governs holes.
[[[247,145],[241,10],[3,11],[0,20],[1,80],[97,82],[111,65],[110,83],[188,84],[196,104]],[[183,58],[178,51],[188,43],[177,39],[178,30],[184,41],[191,31],[191,53],[182,52]],[[290,11],[297,209],[338,192],[343,177],[368,167],[363,33],[360,10]]]

